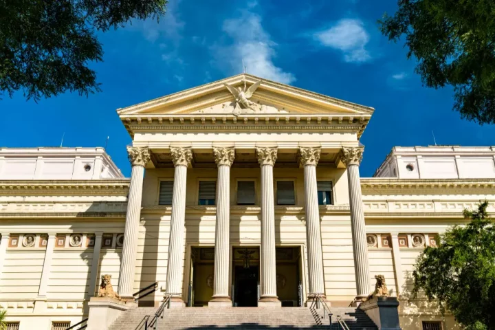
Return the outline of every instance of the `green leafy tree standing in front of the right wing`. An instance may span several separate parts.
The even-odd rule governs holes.
[[[438,248],[426,248],[412,274],[414,296],[437,300],[465,329],[495,329],[495,227],[487,206],[465,210],[472,221],[441,235]]]

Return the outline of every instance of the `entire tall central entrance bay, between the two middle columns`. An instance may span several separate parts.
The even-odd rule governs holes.
[[[259,247],[234,248],[232,273],[234,307],[257,307],[259,300]]]

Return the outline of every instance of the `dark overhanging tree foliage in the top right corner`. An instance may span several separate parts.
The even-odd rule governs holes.
[[[380,30],[406,36],[408,58],[428,87],[454,87],[454,110],[479,124],[495,123],[495,0],[399,0]]]

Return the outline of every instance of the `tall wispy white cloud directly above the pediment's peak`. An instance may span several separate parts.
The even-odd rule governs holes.
[[[223,22],[223,31],[232,38],[228,47],[213,47],[218,65],[230,66],[231,74],[242,72],[242,63],[248,73],[262,78],[289,84],[296,80],[294,74],[284,72],[274,65],[276,43],[265,32],[261,17],[252,12],[244,12],[241,17]]]

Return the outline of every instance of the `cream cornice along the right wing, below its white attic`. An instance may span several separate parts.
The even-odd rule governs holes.
[[[495,195],[495,179],[384,179],[361,178],[363,195]]]

